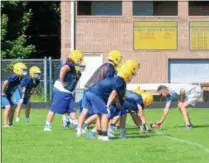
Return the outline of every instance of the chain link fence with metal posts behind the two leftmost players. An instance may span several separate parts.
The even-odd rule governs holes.
[[[7,79],[8,75],[13,72],[13,64],[16,62],[24,62],[28,69],[32,66],[38,66],[41,69],[41,82],[31,96],[31,102],[49,102],[54,81],[59,74],[61,60],[52,60],[46,57],[44,59],[2,59],[2,81]]]

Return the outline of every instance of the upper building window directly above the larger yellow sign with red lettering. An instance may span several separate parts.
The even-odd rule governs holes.
[[[133,1],[134,16],[177,16],[177,1]]]

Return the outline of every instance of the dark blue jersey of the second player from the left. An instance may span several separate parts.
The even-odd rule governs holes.
[[[20,87],[25,88],[25,97],[30,97],[33,93],[33,90],[38,86],[40,83],[40,79],[33,79],[31,76],[25,76],[22,81],[20,82]]]

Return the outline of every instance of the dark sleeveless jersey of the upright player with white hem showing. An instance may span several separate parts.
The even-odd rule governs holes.
[[[67,65],[70,68],[70,71],[65,74],[65,88],[72,92],[75,89],[75,85],[77,84],[75,64],[71,61],[67,61],[63,66],[65,65]],[[60,74],[58,76],[58,80],[60,80]]]

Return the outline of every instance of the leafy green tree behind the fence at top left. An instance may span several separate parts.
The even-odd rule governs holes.
[[[32,17],[27,3],[20,1],[1,3],[2,58],[28,58],[35,52],[35,46],[27,43],[29,36],[25,34]]]

